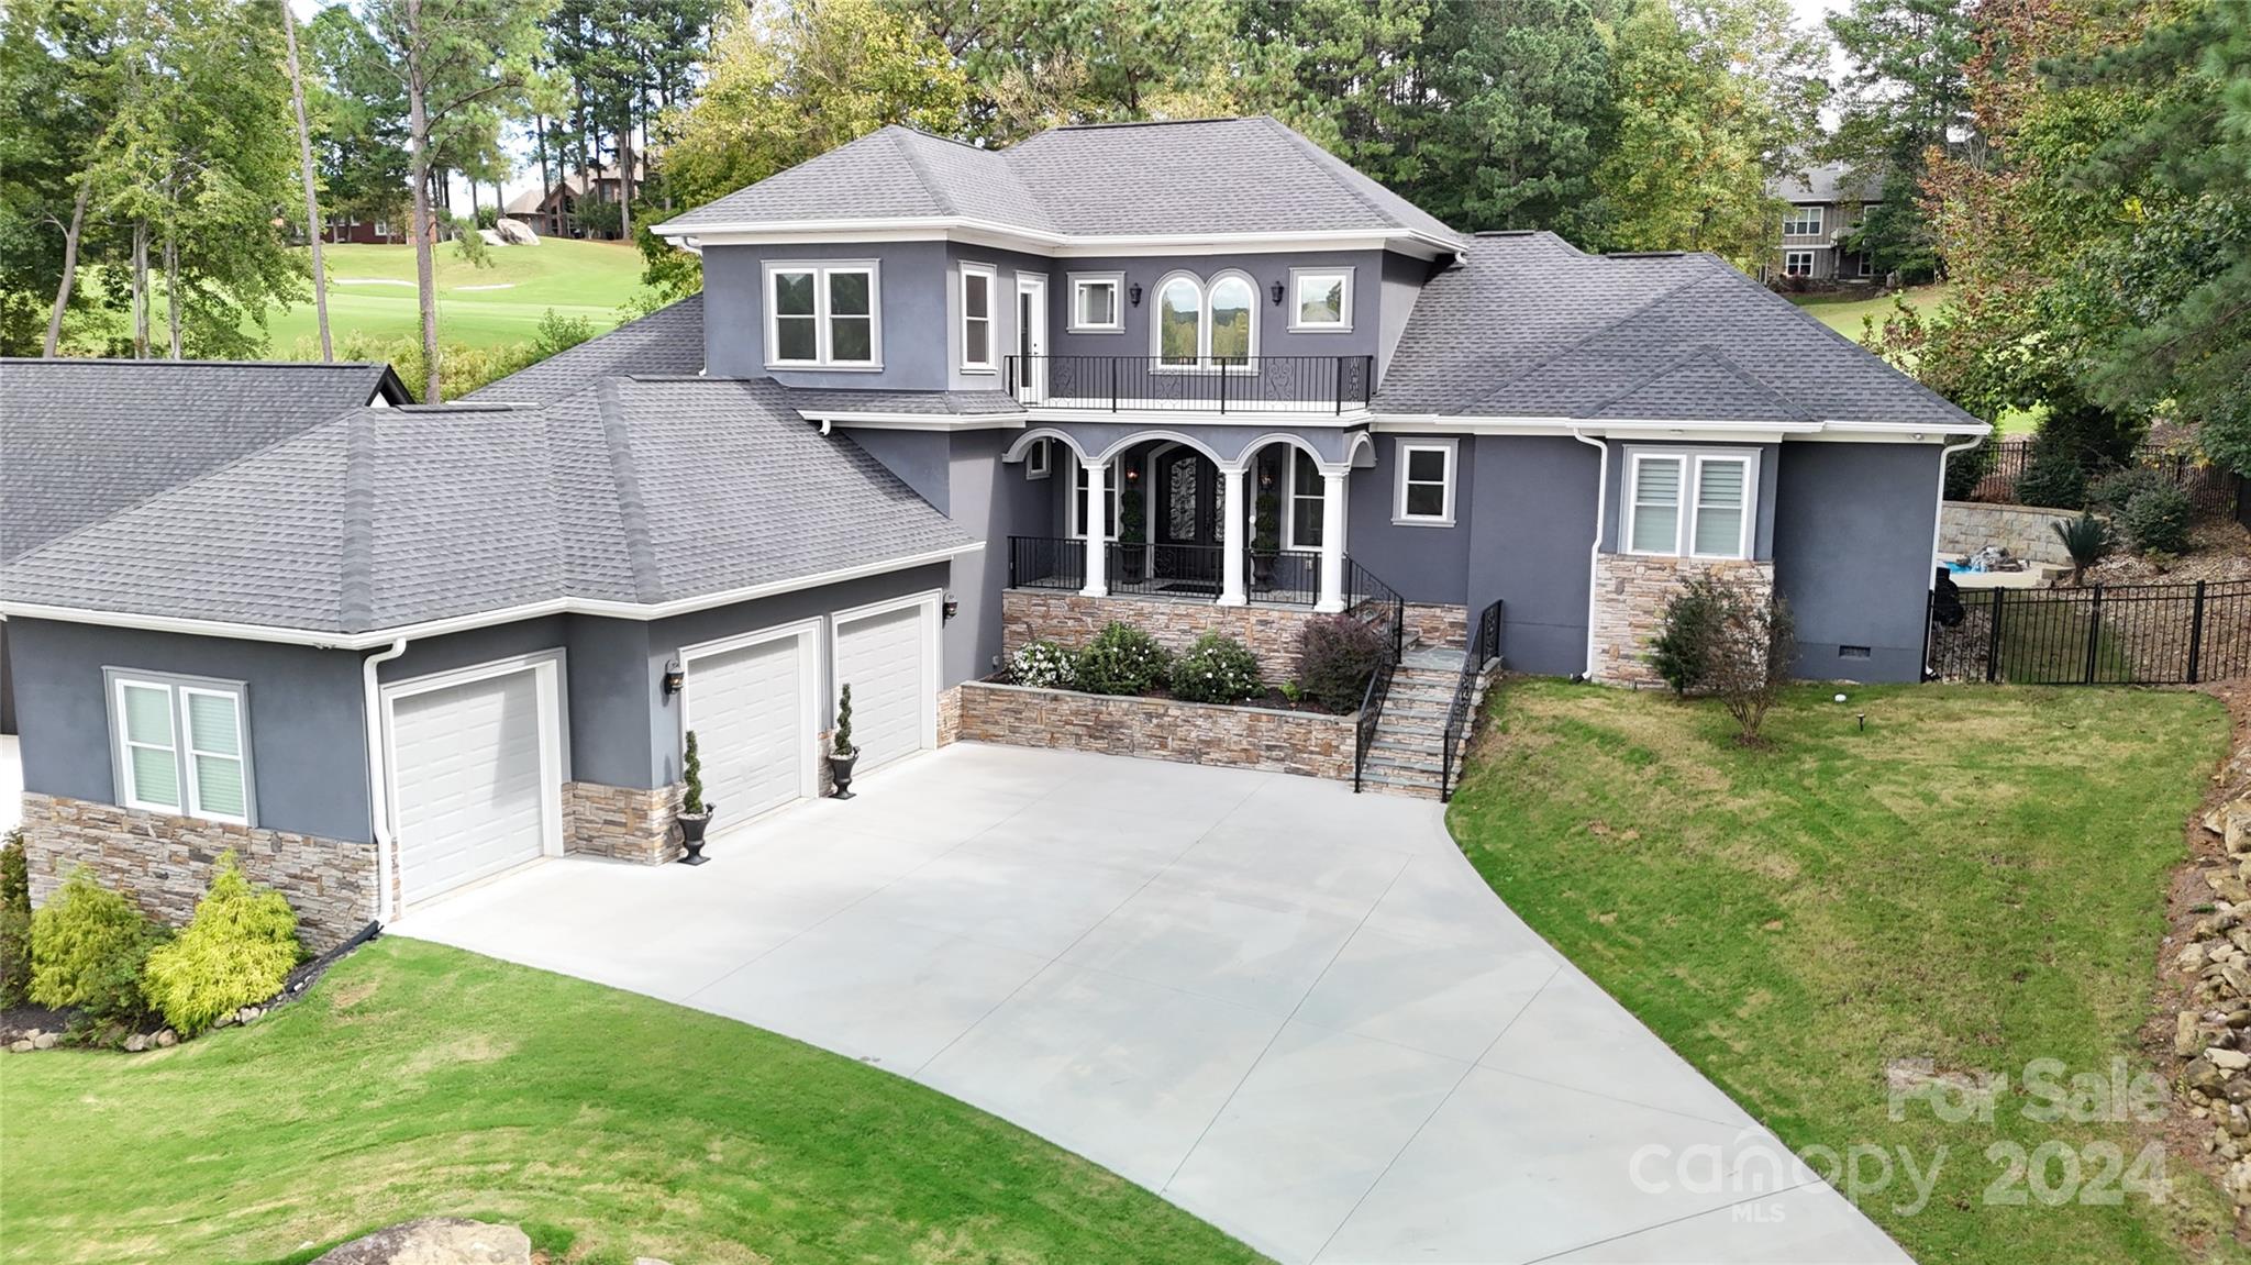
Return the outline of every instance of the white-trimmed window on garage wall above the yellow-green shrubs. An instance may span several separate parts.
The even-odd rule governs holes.
[[[250,734],[241,682],[108,671],[117,801],[250,824]]]

